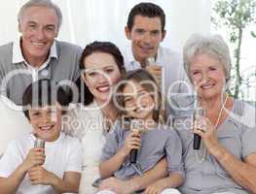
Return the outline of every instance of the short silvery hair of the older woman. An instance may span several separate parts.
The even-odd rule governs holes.
[[[192,35],[183,48],[184,68],[189,76],[191,61],[197,54],[207,54],[218,59],[223,66],[226,81],[231,78],[231,56],[227,44],[220,35]]]

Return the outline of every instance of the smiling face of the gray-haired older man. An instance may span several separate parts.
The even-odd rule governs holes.
[[[18,24],[21,50],[31,65],[43,64],[57,35],[57,16],[54,9],[30,7],[24,11]]]

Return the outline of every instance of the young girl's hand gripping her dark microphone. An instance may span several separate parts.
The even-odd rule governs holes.
[[[131,149],[139,149],[140,147],[140,134],[138,131],[131,131],[125,141],[125,145],[121,149],[123,154],[128,156]]]

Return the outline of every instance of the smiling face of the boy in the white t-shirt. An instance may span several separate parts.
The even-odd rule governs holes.
[[[44,107],[28,111],[34,134],[47,142],[55,141],[61,129],[61,110],[56,107]]]

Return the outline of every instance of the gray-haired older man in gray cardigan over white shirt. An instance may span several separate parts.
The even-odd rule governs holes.
[[[51,0],[30,0],[18,13],[18,41],[0,47],[1,93],[16,104],[32,81],[75,81],[82,49],[56,41],[62,15]]]

